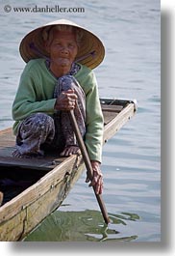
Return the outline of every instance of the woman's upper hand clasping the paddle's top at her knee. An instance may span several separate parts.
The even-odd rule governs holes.
[[[56,110],[69,111],[76,106],[77,95],[74,90],[67,90],[61,93],[55,103]]]

